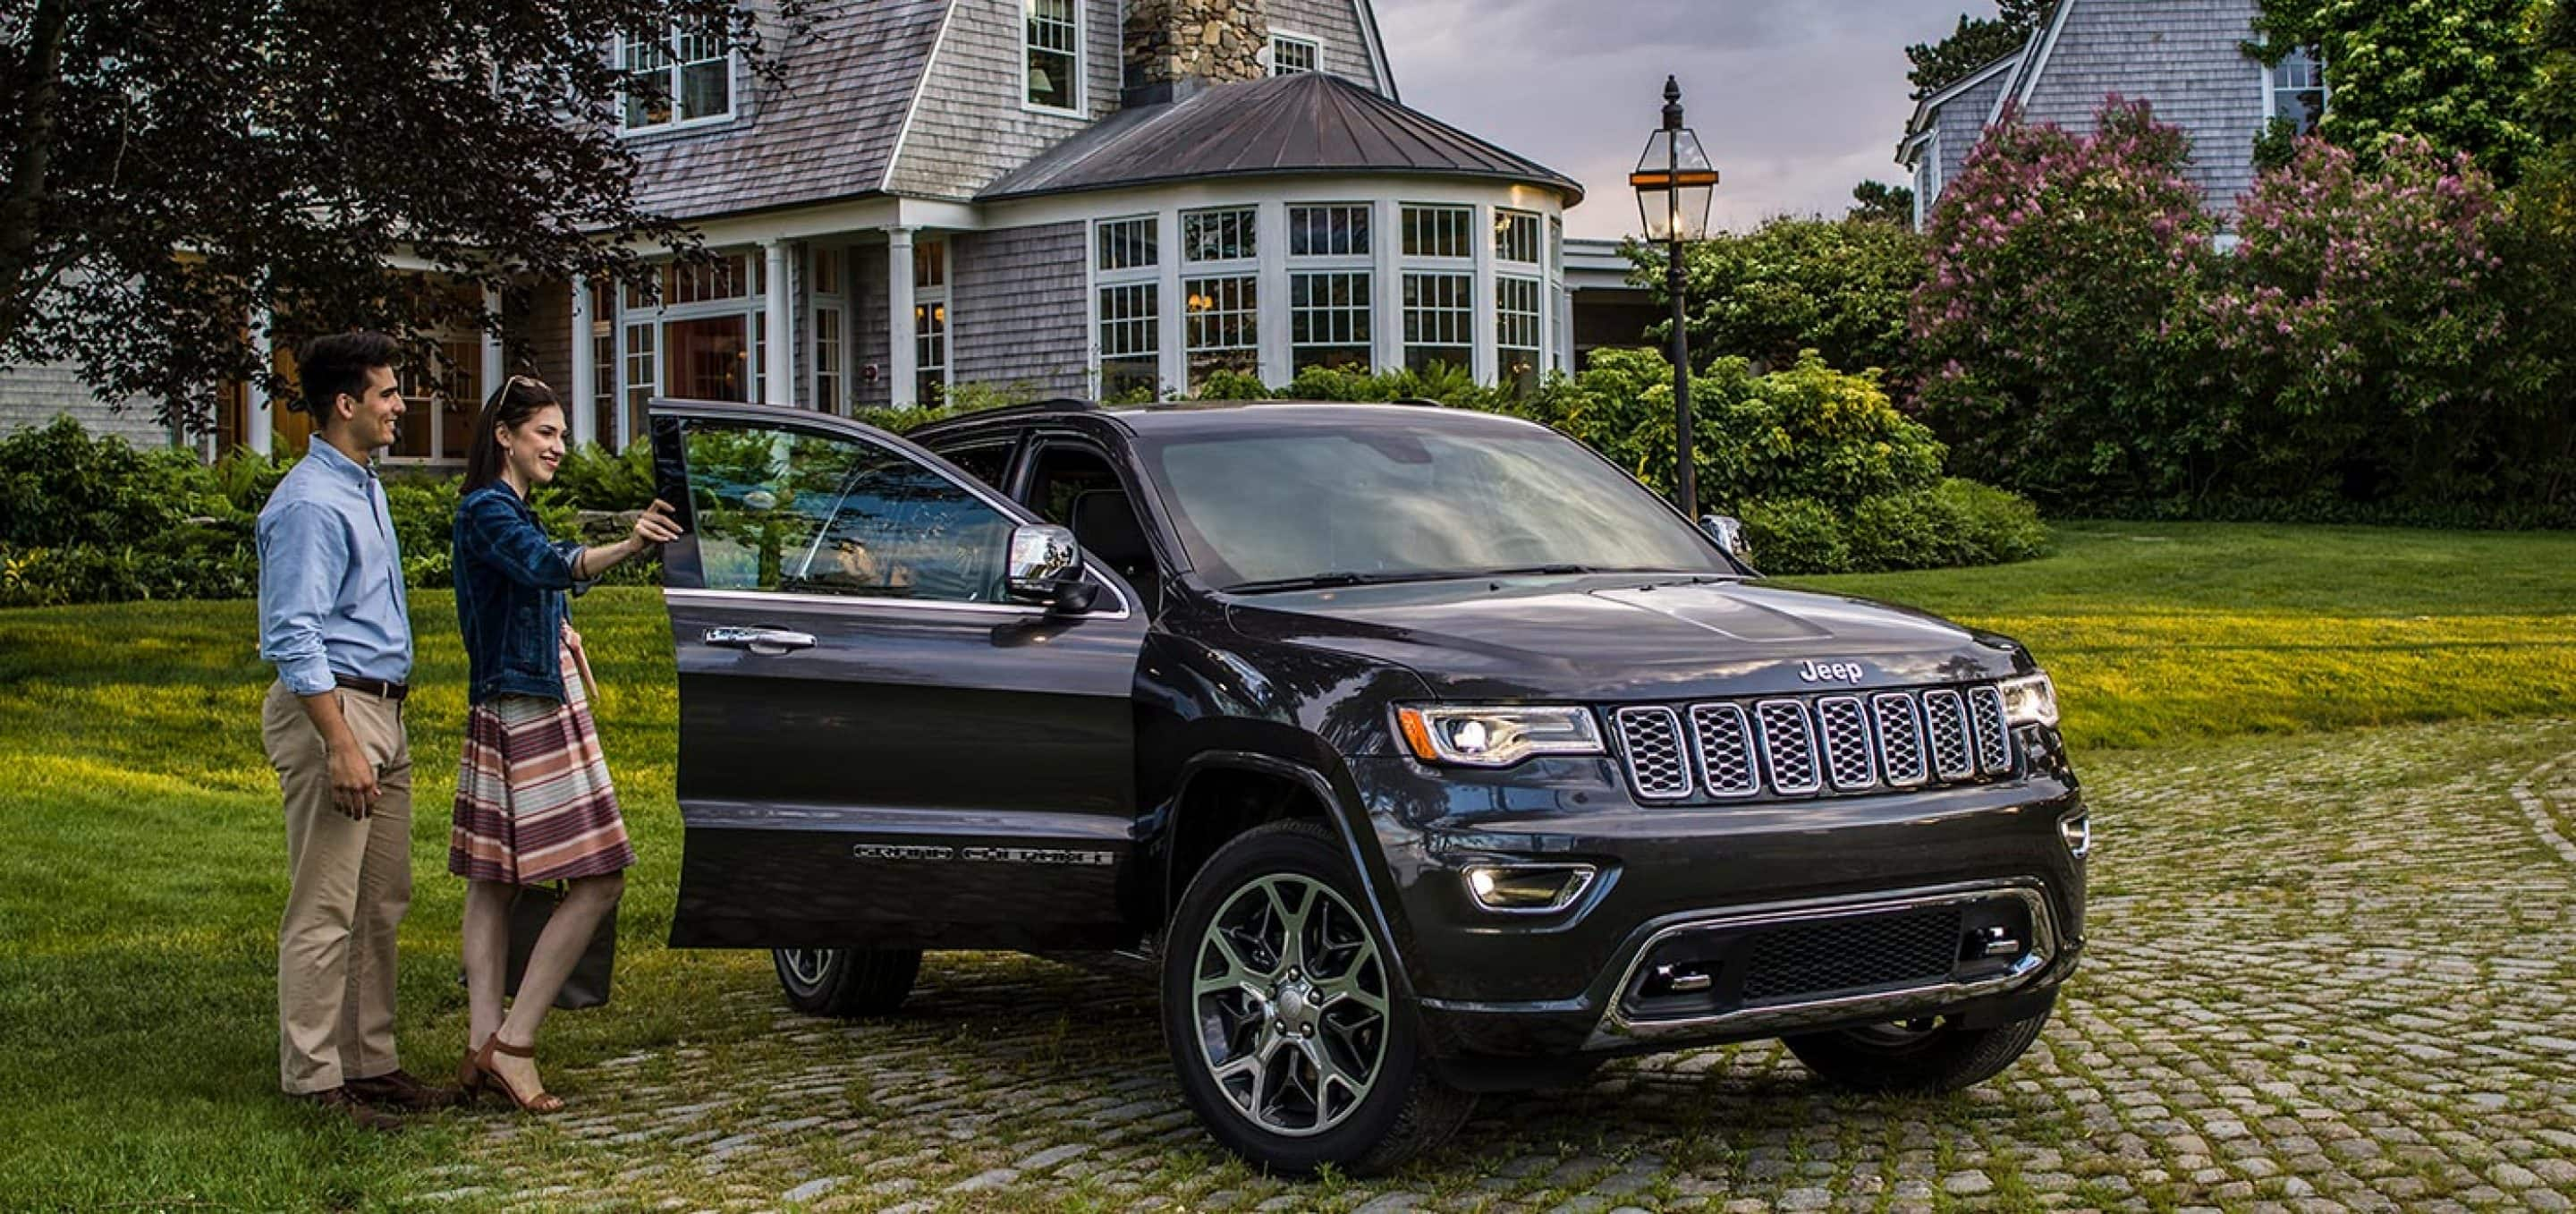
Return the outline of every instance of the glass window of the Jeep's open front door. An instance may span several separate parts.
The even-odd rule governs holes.
[[[1012,521],[899,451],[696,425],[688,495],[708,590],[1005,601]]]

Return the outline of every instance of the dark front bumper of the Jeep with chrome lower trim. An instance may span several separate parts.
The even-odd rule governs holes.
[[[2084,858],[2061,830],[2084,802],[2053,737],[2027,742],[2027,768],[2002,784],[1708,807],[1636,804],[1602,760],[1350,768],[1430,1052],[1546,1059],[2045,1005],[2084,946]],[[1561,912],[1497,915],[1466,892],[1473,863],[1600,876]],[[1814,997],[1741,985],[1749,949],[1806,941],[1834,964],[1880,928],[1937,933],[1945,915],[2004,928],[2017,949],[1942,974],[1862,967]],[[1677,961],[1705,969],[1705,995],[1638,997],[1651,967]]]

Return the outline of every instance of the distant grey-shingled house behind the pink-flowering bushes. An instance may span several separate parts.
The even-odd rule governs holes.
[[[1914,222],[1932,214],[1968,152],[2012,106],[2022,121],[2092,131],[2102,98],[2148,101],[2192,137],[2192,183],[2231,211],[2254,186],[2254,139],[2275,121],[2298,131],[2326,113],[2326,75],[2311,54],[2264,64],[2246,54],[2257,0],[2058,0],[2012,52],[1922,98],[1896,144],[1914,173]]]

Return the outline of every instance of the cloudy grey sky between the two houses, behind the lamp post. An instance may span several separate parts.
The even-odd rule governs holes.
[[[1636,232],[1628,168],[1664,75],[1718,162],[1716,222],[1842,214],[1904,180],[1906,44],[1986,0],[1376,0],[1404,103],[1584,183],[1577,237]]]

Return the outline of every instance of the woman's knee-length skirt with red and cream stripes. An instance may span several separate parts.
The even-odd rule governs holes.
[[[569,650],[562,670],[564,704],[495,696],[466,711],[451,874],[538,884],[613,874],[636,861]]]

